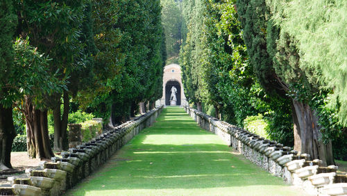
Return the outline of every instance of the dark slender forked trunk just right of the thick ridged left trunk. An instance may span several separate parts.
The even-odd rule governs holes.
[[[60,111],[60,97],[58,104],[53,108],[54,119],[54,150],[62,151],[67,150],[67,123],[69,119],[69,94],[65,91],[62,95],[63,100],[63,112]]]

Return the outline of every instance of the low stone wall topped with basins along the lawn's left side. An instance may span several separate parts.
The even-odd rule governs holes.
[[[61,154],[62,158],[53,157],[51,162],[42,162],[41,170],[26,170],[26,176],[8,177],[8,183],[0,184],[0,195],[62,195],[99,168],[139,131],[151,126],[162,108],[155,108],[89,142],[70,148]]]

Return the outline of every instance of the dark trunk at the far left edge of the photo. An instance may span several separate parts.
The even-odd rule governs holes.
[[[13,125],[12,107],[3,108],[0,104],[0,170],[12,169],[11,149],[16,131]]]

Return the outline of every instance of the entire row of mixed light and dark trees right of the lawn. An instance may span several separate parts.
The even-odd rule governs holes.
[[[260,113],[270,138],[334,163],[333,147],[346,152],[342,13],[327,1],[183,1],[185,95],[239,126]]]

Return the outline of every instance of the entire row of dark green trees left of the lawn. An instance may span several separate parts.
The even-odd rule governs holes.
[[[71,101],[110,126],[139,102],[153,108],[166,60],[160,13],[158,0],[1,1],[0,169],[11,168],[13,108],[33,158],[54,156],[48,113],[54,149],[67,149]]]

